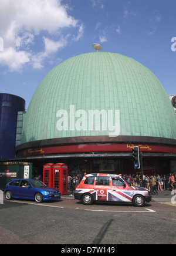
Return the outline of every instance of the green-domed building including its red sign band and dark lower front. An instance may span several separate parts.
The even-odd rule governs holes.
[[[140,147],[144,173],[175,170],[170,99],[141,63],[92,52],[65,60],[42,80],[25,114],[16,157],[40,166],[66,163],[72,173],[135,173],[134,146]]]

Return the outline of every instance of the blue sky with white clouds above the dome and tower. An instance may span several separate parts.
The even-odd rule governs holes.
[[[1,0],[0,92],[27,108],[52,68],[100,43],[142,63],[175,94],[175,11],[175,0]]]

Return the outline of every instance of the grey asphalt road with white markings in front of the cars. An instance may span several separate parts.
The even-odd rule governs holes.
[[[84,206],[69,197],[42,204],[4,198],[0,244],[176,244],[175,209],[164,200],[138,208],[116,203]]]

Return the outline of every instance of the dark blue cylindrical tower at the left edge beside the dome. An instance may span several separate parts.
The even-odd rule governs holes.
[[[18,112],[25,112],[25,100],[0,93],[0,157],[15,156],[16,122]]]

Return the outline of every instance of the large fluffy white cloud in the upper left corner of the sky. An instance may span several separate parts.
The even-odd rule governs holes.
[[[42,68],[50,53],[67,45],[68,35],[62,34],[64,28],[78,30],[77,36],[72,35],[75,41],[83,35],[83,24],[67,14],[61,0],[1,0],[0,36],[4,52],[0,54],[0,65],[11,71],[21,70],[26,63]],[[43,52],[38,50],[42,44]]]

